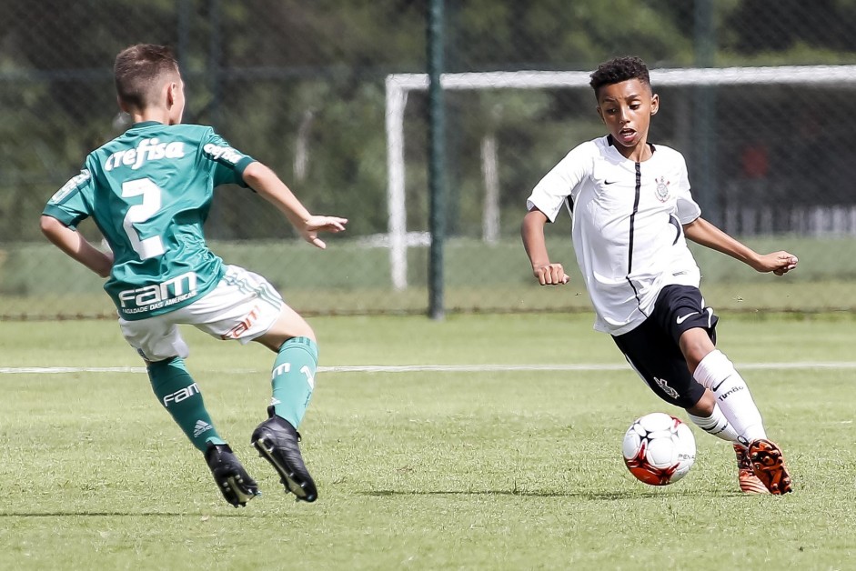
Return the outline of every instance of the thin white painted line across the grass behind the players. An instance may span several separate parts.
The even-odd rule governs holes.
[[[856,362],[798,362],[798,363],[743,363],[739,369],[852,369]],[[319,366],[318,373],[489,373],[502,371],[620,371],[629,366],[601,365],[358,365]],[[261,369],[223,369],[218,373],[244,375],[262,373]],[[61,375],[69,373],[146,373],[142,366],[0,366],[0,375]]]

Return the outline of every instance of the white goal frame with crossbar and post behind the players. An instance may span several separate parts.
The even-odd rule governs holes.
[[[707,85],[822,85],[856,84],[856,65],[783,65],[773,67],[720,67],[653,69],[651,84]],[[590,72],[516,71],[440,75],[448,90],[544,89],[585,87]],[[404,111],[408,93],[428,89],[428,74],[392,74],[386,78],[388,245],[392,285],[408,285],[408,231],[405,201]]]

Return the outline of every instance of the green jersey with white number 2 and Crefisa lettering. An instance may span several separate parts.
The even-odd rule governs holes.
[[[104,288],[128,320],[186,306],[224,274],[202,226],[217,185],[244,183],[253,158],[202,125],[138,123],[86,157],[43,214],[92,216],[113,250]]]

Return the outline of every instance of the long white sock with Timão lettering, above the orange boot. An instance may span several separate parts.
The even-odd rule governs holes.
[[[717,405],[737,433],[740,444],[747,446],[756,438],[767,437],[764,422],[746,381],[719,349],[714,349],[701,359],[693,376],[716,396]]]

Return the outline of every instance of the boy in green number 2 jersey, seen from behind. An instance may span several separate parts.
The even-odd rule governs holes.
[[[317,488],[297,445],[297,426],[315,386],[315,334],[265,278],[226,265],[208,250],[203,224],[214,188],[227,183],[256,191],[319,248],[326,246],[318,232],[340,232],[347,220],[311,215],[273,171],[211,127],[180,125],[184,84],[166,46],[128,47],[116,56],[114,72],[118,103],[133,125],[86,157],[80,174],[45,206],[42,231],[108,278],[105,290],[122,334],[146,361],[158,401],[204,454],[223,496],[236,507],[258,488],[217,433],[185,367],[188,349],[177,326],[274,351],[268,418],[251,442],[287,492],[313,502]],[[76,231],[88,216],[111,252],[100,252]]]

